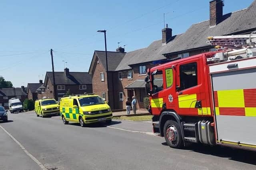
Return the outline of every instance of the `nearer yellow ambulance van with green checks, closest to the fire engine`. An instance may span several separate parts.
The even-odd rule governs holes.
[[[60,114],[64,124],[79,122],[82,127],[88,123],[104,121],[111,123],[110,106],[98,95],[82,94],[61,98]]]

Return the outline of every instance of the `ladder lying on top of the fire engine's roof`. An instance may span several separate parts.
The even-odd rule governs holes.
[[[234,46],[234,47],[244,47],[248,45],[256,44],[256,31],[251,34],[246,35],[227,35],[227,36],[212,36],[208,37],[207,43],[210,45],[219,46]]]

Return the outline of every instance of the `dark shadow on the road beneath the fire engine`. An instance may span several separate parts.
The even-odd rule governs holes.
[[[162,145],[168,146],[166,142]],[[256,165],[255,157],[256,152],[243,149],[233,149],[230,147],[221,147],[221,146],[206,146],[200,144],[191,144],[188,147],[183,148],[182,150],[189,150],[190,152],[198,152],[202,154],[209,154],[213,156],[218,156],[222,158],[228,158],[230,160],[244,162],[247,164]]]

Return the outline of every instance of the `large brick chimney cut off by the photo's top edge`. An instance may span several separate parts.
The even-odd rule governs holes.
[[[217,25],[222,21],[223,16],[223,1],[210,1],[210,27]]]

